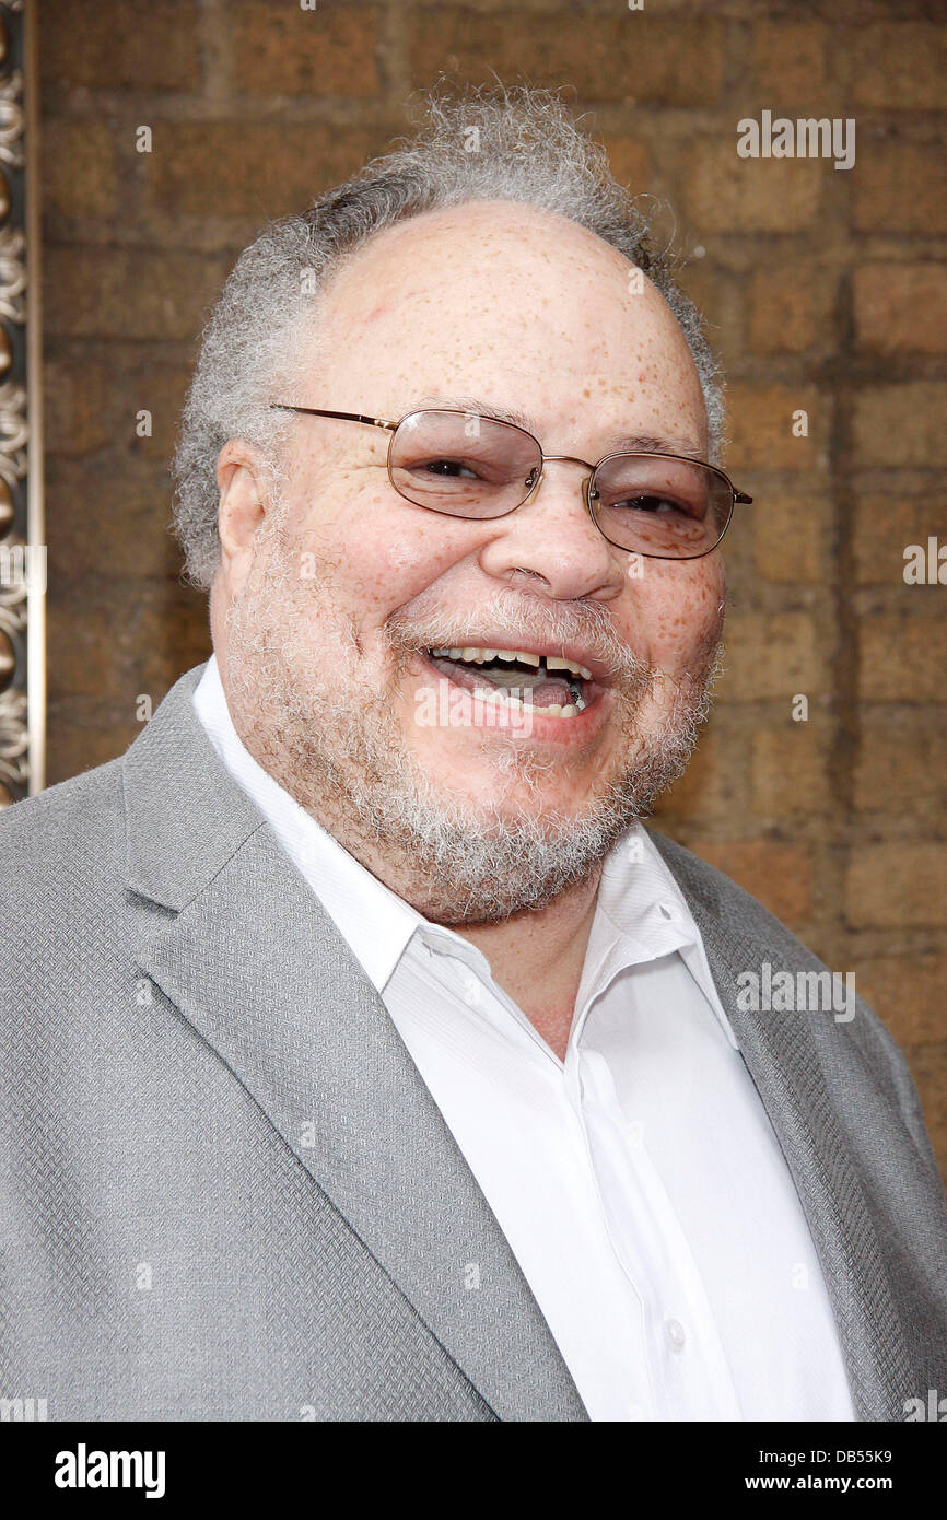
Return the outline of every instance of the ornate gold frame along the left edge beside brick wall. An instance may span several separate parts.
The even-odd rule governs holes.
[[[0,0],[0,807],[46,774],[35,0]]]

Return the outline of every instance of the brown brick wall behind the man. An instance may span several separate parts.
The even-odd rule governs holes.
[[[50,780],[120,752],[135,698],[208,652],[166,468],[239,249],[383,149],[441,70],[572,87],[620,176],[676,210],[730,375],[728,462],[757,497],[728,540],[719,708],[660,824],[856,971],[947,1170],[947,587],[903,578],[907,544],[947,543],[942,15],[41,0]],[[739,158],[736,123],[763,109],[854,117],[856,166]]]

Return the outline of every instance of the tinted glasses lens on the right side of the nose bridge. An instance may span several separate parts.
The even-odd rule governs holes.
[[[613,544],[640,555],[705,555],[719,544],[733,511],[730,482],[690,459],[613,454],[591,485],[600,530]]]

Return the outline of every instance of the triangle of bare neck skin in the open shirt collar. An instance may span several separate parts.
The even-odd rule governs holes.
[[[600,865],[547,907],[499,924],[454,926],[489,961],[494,980],[523,1009],[546,1044],[565,1059]]]

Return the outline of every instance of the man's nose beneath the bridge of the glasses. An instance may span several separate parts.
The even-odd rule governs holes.
[[[584,476],[576,474],[576,465]],[[523,505],[497,520],[496,535],[480,550],[486,575],[520,584],[527,578],[534,590],[556,600],[617,596],[628,556],[608,543],[587,509],[590,476],[584,459],[547,458]]]

